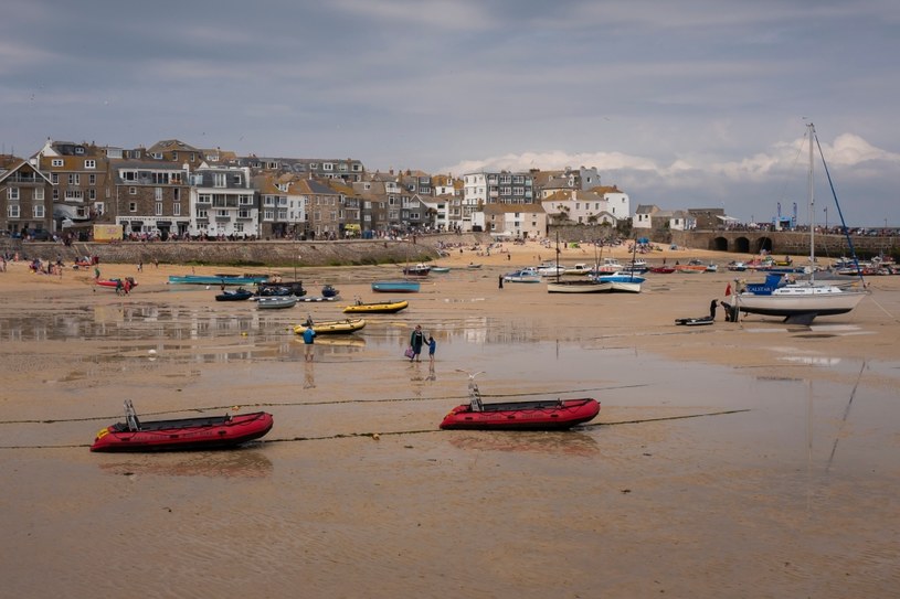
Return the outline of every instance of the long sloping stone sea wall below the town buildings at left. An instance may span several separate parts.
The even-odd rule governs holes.
[[[62,259],[97,256],[113,264],[198,264],[222,266],[352,266],[434,260],[441,242],[473,245],[489,243],[479,234],[417,236],[415,243],[391,239],[339,242],[121,242],[112,244],[7,240],[0,250],[22,259]]]

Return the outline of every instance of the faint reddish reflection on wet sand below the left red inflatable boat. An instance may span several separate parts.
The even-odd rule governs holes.
[[[272,474],[265,447],[251,442],[225,451],[134,453],[105,459],[100,470],[108,474],[158,477],[261,478]]]

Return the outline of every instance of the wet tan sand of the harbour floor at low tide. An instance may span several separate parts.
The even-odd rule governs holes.
[[[648,276],[639,296],[557,296],[497,279],[552,249],[464,249],[411,307],[303,361],[290,331],[338,302],[260,312],[189,268],[0,274],[0,510],[10,595],[86,597],[890,596],[900,516],[900,279],[851,313],[787,327],[676,327],[732,274]],[[606,250],[608,252],[608,250]],[[627,258],[625,248],[616,252]],[[608,254],[607,254],[608,255]],[[669,264],[699,250],[647,256]],[[567,264],[593,254],[567,249]],[[747,258],[747,256],[741,256]],[[481,263],[477,270],[463,268]],[[197,272],[245,269],[195,268]],[[346,300],[396,267],[303,269]],[[293,272],[285,271],[288,278]],[[750,280],[752,274],[741,275]],[[437,360],[409,363],[416,323]],[[153,354],[150,353],[152,350]],[[481,392],[590,395],[561,434],[440,431]],[[130,398],[145,418],[240,406],[275,416],[230,452],[94,454]]]

